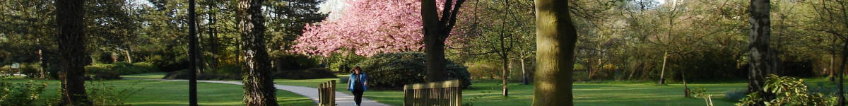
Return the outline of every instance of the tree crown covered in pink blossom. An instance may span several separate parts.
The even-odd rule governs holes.
[[[350,5],[337,20],[306,25],[291,52],[329,56],[352,51],[367,57],[420,51],[424,47],[419,0],[347,0],[346,3]]]

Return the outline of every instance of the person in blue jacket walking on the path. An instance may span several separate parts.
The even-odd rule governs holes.
[[[354,73],[350,74],[348,82],[348,91],[354,93],[354,102],[357,106],[360,106],[362,103],[362,92],[365,92],[365,89],[368,86],[368,75],[365,75],[365,72],[360,70],[360,66],[354,67]]]

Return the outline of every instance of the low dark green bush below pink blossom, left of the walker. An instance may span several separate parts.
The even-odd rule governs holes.
[[[271,76],[280,79],[319,79],[319,78],[338,78],[332,74],[330,70],[325,68],[312,68],[308,70],[282,70],[276,71]]]

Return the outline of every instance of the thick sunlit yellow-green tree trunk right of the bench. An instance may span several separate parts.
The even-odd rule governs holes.
[[[533,105],[572,106],[577,31],[567,0],[536,0],[536,63]]]

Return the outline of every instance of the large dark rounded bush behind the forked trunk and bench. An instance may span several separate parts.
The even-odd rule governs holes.
[[[424,53],[382,53],[365,59],[359,66],[369,75],[369,88],[401,89],[405,84],[425,82],[424,57]],[[471,85],[465,66],[450,60],[446,64],[449,80],[459,79],[463,88]]]

